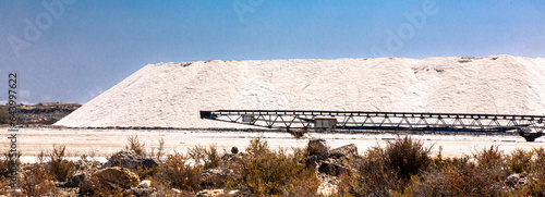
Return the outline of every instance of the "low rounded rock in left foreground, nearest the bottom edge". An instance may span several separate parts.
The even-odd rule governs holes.
[[[128,189],[137,186],[140,183],[140,178],[136,174],[129,169],[120,167],[102,169],[93,174],[93,176],[97,177],[101,185],[109,185],[113,188],[119,187]]]

